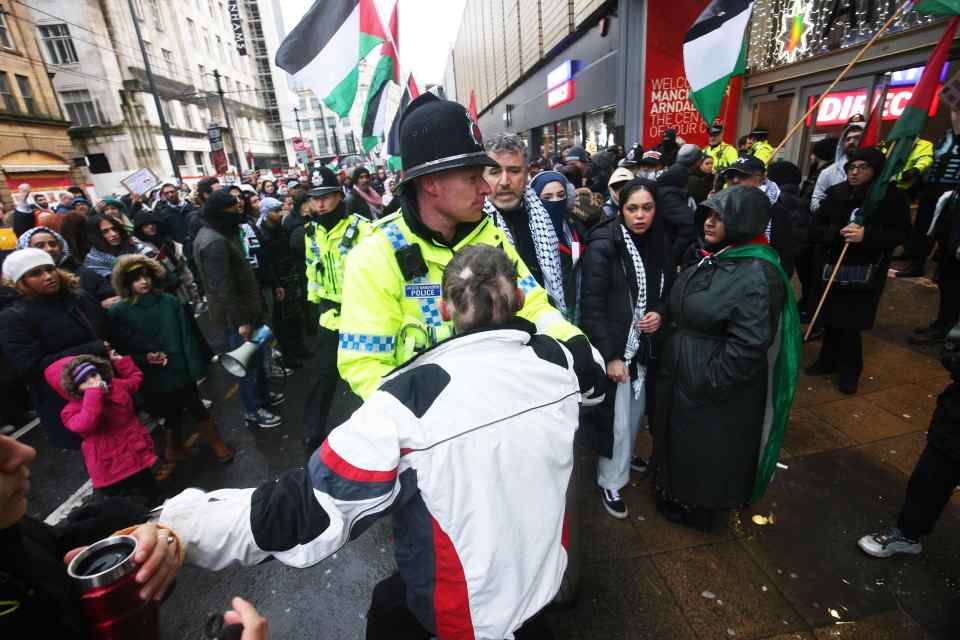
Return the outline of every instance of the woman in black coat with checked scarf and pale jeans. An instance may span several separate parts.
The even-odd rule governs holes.
[[[610,382],[593,416],[601,455],[597,484],[604,508],[616,518],[627,516],[620,490],[631,467],[645,467],[633,458],[633,447],[647,413],[655,336],[674,274],[655,192],[649,180],[628,182],[620,191],[617,217],[591,232],[582,265],[582,326],[607,363]]]

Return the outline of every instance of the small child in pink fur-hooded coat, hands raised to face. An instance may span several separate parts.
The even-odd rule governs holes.
[[[150,467],[157,456],[133,404],[133,394],[143,382],[133,359],[115,351],[109,361],[69,356],[47,367],[44,376],[67,400],[60,416],[83,438],[80,449],[94,490],[154,506],[158,490]]]

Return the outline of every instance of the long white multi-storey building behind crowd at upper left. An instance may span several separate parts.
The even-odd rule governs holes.
[[[261,3],[272,11],[270,3]],[[259,66],[263,34],[249,32],[248,3],[241,0],[36,0],[29,22],[54,87],[71,122],[70,135],[86,159],[99,193],[122,193],[120,181],[147,167],[173,175],[160,118],[150,93],[134,29],[143,34],[161,108],[170,128],[180,174],[190,180],[214,172],[207,138],[212,124],[225,126],[234,169],[285,165],[286,157],[264,96],[272,80]],[[242,37],[235,39],[231,9],[237,5]],[[262,17],[262,16],[258,16]],[[272,24],[268,20],[256,20]],[[241,55],[241,45],[246,55]],[[217,86],[219,74],[223,99]],[[268,89],[272,87],[268,86]],[[226,132],[225,132],[226,133]],[[237,148],[231,148],[236,140]]]

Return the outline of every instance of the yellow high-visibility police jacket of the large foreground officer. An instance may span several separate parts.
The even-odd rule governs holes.
[[[491,219],[484,216],[455,246],[414,233],[403,210],[377,221],[372,235],[347,256],[340,316],[337,366],[354,393],[366,399],[390,371],[416,353],[453,335],[453,324],[440,317],[440,282],[455,251],[471,244],[502,248],[517,264],[518,286],[526,298],[520,317],[558,340],[582,335],[550,305],[516,249]],[[397,252],[416,245],[427,274],[404,278]]]

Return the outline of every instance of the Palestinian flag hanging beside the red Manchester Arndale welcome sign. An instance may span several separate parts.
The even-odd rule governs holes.
[[[690,102],[705,122],[720,115],[730,78],[747,67],[747,23],[753,0],[710,0],[683,39]]]

